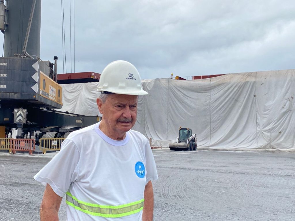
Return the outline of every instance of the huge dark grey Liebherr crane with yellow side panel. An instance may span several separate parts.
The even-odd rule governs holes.
[[[0,0],[0,137],[12,128],[17,128],[17,138],[34,131],[40,131],[39,138],[52,131],[62,136],[100,120],[56,110],[63,105],[58,57],[54,63],[40,59],[40,27],[41,0],[9,0],[6,5]]]

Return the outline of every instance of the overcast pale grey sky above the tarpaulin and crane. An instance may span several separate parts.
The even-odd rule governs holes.
[[[70,0],[64,9],[71,72]],[[57,55],[58,73],[61,25],[61,1],[42,0],[40,57]],[[75,1],[75,72],[101,73],[114,60],[142,79],[295,69],[294,39],[294,0]],[[72,72],[73,50],[72,14]]]

